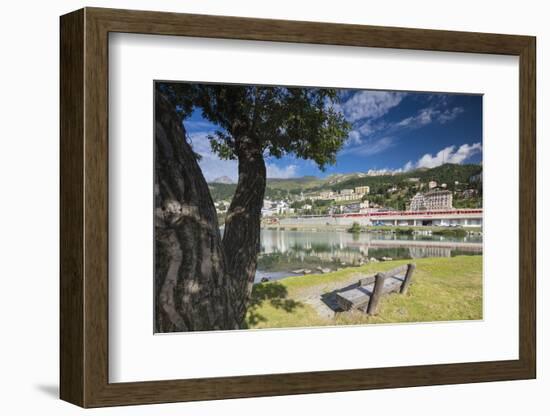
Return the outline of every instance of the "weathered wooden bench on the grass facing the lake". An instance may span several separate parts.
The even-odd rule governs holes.
[[[345,311],[359,309],[369,315],[375,315],[383,295],[393,292],[407,293],[415,267],[414,264],[406,264],[384,273],[364,277],[355,287],[338,292],[336,302]]]

